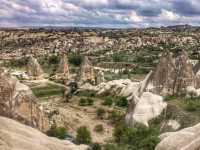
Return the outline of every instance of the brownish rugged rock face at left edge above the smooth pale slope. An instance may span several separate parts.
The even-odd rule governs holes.
[[[48,119],[44,117],[32,91],[9,75],[0,76],[0,115],[13,118],[40,130],[48,128]]]

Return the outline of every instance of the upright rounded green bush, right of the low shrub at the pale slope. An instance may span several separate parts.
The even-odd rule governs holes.
[[[91,134],[87,127],[82,126],[77,129],[76,141],[79,144],[90,144],[91,140]]]

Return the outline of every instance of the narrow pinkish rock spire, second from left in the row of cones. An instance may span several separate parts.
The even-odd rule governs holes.
[[[62,54],[61,56],[57,74],[64,77],[65,79],[69,79],[69,65],[67,56],[65,54]]]

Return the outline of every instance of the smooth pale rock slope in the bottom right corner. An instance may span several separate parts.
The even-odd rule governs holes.
[[[200,149],[200,124],[177,132],[164,133],[155,150],[198,150]]]

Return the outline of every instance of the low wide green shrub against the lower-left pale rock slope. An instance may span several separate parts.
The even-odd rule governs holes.
[[[66,129],[64,127],[52,126],[48,131],[47,135],[51,137],[57,137],[59,139],[65,139],[67,136]]]

